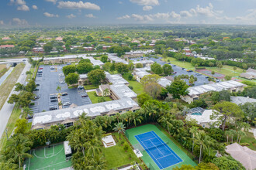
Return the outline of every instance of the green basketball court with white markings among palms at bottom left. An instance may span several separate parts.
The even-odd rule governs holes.
[[[33,158],[24,162],[26,170],[32,169],[61,169],[71,167],[71,160],[66,161],[64,145],[51,145],[50,148],[38,148],[30,151]]]

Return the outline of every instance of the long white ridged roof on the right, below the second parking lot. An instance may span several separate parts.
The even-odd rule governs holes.
[[[209,91],[221,91],[221,90],[229,90],[232,87],[244,87],[243,83],[239,83],[234,80],[223,81],[220,83],[211,83],[205,84],[197,87],[189,87],[189,96],[192,95],[200,95],[202,93],[206,93]]]

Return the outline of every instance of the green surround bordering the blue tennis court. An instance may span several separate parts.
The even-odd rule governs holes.
[[[153,124],[146,124],[146,125],[143,125],[143,126],[140,126],[137,128],[128,129],[128,130],[126,130],[125,134],[132,145],[137,145],[139,143],[139,141],[137,141],[137,139],[134,136],[136,136],[137,134],[144,134],[148,131],[154,131],[183,160],[183,162],[180,162],[177,165],[172,165],[172,166],[170,166],[168,168],[164,168],[164,169],[172,169],[172,168],[175,168],[176,166],[181,167],[182,165],[195,166],[196,165],[195,162],[193,162],[192,159],[189,158],[189,156],[186,155],[184,151],[182,151],[180,148],[178,148],[178,146],[175,145],[175,143],[173,141],[171,141],[170,138],[168,138],[163,132],[161,132],[161,130],[159,128],[161,129],[161,127],[157,128],[157,126],[155,126]],[[142,159],[144,160],[144,162],[148,168],[153,169],[153,170],[159,169],[158,166],[154,163],[153,159],[150,158],[150,155],[148,155],[146,151],[143,151],[142,154],[143,154]]]

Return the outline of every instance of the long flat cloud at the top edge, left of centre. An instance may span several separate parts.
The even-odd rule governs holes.
[[[91,2],[58,2],[58,8],[71,8],[71,9],[92,9],[92,10],[100,10],[99,5],[93,4]]]

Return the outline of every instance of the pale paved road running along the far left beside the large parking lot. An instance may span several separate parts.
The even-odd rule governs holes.
[[[26,63],[25,68],[22,70],[22,73],[19,76],[19,79],[17,80],[17,83],[25,83],[26,80],[26,71],[29,71],[31,67],[31,64]],[[15,87],[12,88],[11,93],[9,94],[9,97],[12,95],[12,93],[17,93],[14,91]],[[7,100],[5,101],[4,106],[0,110],[0,137],[2,137],[3,132],[5,131],[5,127],[7,125],[7,122],[9,121],[9,117],[12,114],[12,110],[15,104],[8,104]]]

